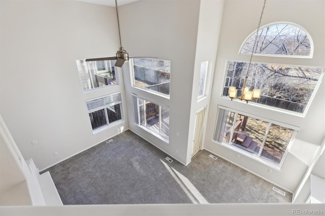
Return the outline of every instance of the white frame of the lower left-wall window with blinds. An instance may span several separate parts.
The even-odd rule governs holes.
[[[90,127],[92,129],[92,133],[97,133],[97,132],[100,132],[102,130],[105,130],[107,128],[109,128],[111,125],[114,125],[116,123],[119,123],[121,121],[124,121],[124,118],[123,118],[123,110],[122,110],[122,99],[121,99],[121,92],[115,92],[115,93],[112,93],[112,94],[107,94],[107,95],[104,95],[104,96],[100,96],[100,97],[95,97],[95,98],[91,98],[91,99],[88,99],[86,100],[86,106],[87,106],[87,102],[89,101],[94,101],[94,100],[98,100],[98,99],[102,99],[105,101],[105,97],[109,97],[109,96],[112,96],[112,95],[118,95],[119,94],[119,98],[120,100],[119,101],[115,101],[115,102],[111,102],[111,103],[107,103],[107,104],[104,104],[104,105],[101,105],[101,106],[98,106],[98,107],[94,107],[92,109],[88,109],[87,107],[87,114],[91,114],[93,112],[96,112],[96,111],[99,111],[99,110],[103,110],[104,109],[104,112],[105,112],[105,119],[106,119],[106,125],[103,125],[101,127],[98,127],[98,128],[95,128],[95,129],[92,129],[92,125],[91,125],[91,121],[90,121]],[[120,120],[116,120],[112,123],[109,122],[109,116],[108,116],[108,113],[107,113],[107,109],[108,107],[110,106],[113,106],[113,105],[117,105],[117,104],[120,104],[120,116],[121,116],[121,119]],[[90,118],[89,118],[90,120]]]

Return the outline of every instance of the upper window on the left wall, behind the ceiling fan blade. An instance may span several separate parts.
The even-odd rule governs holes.
[[[118,84],[115,60],[76,62],[83,91]]]

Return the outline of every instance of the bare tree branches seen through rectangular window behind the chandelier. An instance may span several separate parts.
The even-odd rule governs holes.
[[[227,77],[232,86],[241,89],[248,62],[229,61]],[[323,69],[318,67],[286,66],[276,64],[252,63],[248,71],[250,89],[261,89],[264,96],[307,104],[315,89]]]

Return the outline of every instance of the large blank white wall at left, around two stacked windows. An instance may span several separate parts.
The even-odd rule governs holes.
[[[119,133],[119,126],[127,129],[124,121],[92,134],[85,100],[121,91],[125,103],[123,86],[83,93],[75,62],[115,55],[115,8],[1,1],[0,48],[0,113],[24,158],[34,159],[39,169]]]

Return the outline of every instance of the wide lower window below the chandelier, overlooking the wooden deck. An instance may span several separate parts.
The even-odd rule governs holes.
[[[281,166],[297,127],[219,107],[213,140]]]

